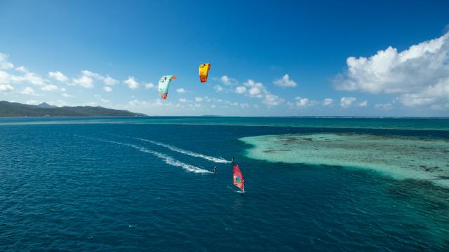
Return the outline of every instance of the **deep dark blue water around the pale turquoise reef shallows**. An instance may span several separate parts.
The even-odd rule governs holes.
[[[445,130],[0,125],[0,251],[448,251],[448,189],[368,170],[250,160],[238,140],[295,132],[449,139]],[[135,138],[236,156],[247,193],[236,193],[229,164]],[[216,165],[217,174],[151,152],[172,164]]]

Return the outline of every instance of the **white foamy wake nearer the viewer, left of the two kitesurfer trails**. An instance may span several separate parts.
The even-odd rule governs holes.
[[[106,143],[110,143],[110,144],[118,144],[121,146],[128,146],[131,148],[135,148],[138,151],[141,151],[142,153],[149,153],[152,154],[154,156],[156,156],[157,158],[163,160],[163,162],[165,162],[167,165],[171,165],[174,167],[181,167],[182,169],[187,170],[188,172],[194,172],[194,173],[199,173],[199,174],[204,174],[204,173],[212,173],[206,169],[201,169],[200,167],[196,167],[194,165],[189,165],[186,164],[184,162],[181,162],[179,160],[176,160],[175,158],[170,157],[169,155],[163,154],[163,153],[159,153],[157,151],[152,151],[148,148],[142,147],[142,146],[137,146],[135,144],[125,144],[125,143],[121,143],[118,141],[111,141],[111,140],[105,140],[105,139],[97,139],[97,138],[93,138],[93,137],[86,137],[89,139],[95,139],[97,141],[103,141]]]

